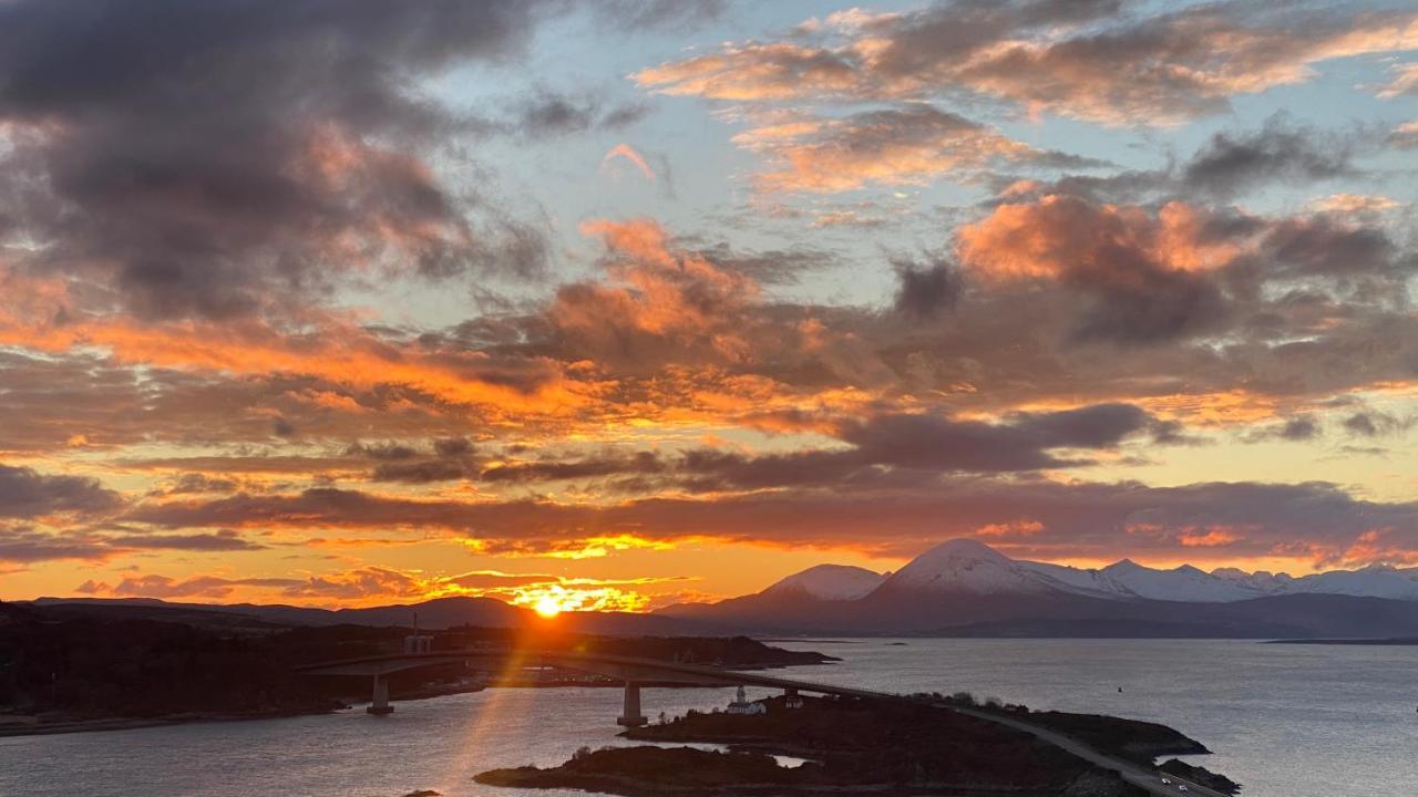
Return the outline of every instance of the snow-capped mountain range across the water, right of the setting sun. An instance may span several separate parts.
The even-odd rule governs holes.
[[[1022,562],[973,539],[896,573],[818,566],[769,589],[658,614],[767,632],[947,637],[1387,637],[1418,632],[1418,569],[1303,577]]]

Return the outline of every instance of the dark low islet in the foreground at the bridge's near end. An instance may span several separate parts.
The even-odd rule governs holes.
[[[693,747],[581,749],[559,767],[485,771],[479,783],[522,788],[584,788],[644,797],[742,794],[1011,794],[1133,797],[1146,791],[1046,742],[987,719],[908,701],[761,701],[764,715],[699,713],[625,732],[657,745]],[[1042,715],[1038,715],[1042,716]],[[1065,719],[1069,718],[1069,719]],[[1090,715],[1051,715],[1110,749],[1144,756],[1205,752],[1176,730]],[[1141,747],[1137,740],[1143,740]],[[778,766],[774,754],[807,759]],[[1150,763],[1150,757],[1147,759]]]

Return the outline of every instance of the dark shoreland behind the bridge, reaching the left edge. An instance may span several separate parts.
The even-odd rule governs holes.
[[[0,603],[0,736],[336,710],[367,701],[369,678],[311,678],[296,675],[295,668],[398,652],[408,632],[397,627],[286,627],[191,611]],[[434,634],[434,650],[475,645],[574,647],[732,668],[830,661],[744,637],[615,638],[478,627]],[[488,684],[484,674],[461,664],[398,672],[389,681],[394,699],[476,691]],[[587,685],[584,678],[576,684]]]

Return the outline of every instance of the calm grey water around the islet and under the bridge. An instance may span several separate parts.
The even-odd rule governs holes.
[[[790,642],[845,661],[810,681],[971,691],[1035,708],[1171,725],[1246,797],[1418,794],[1418,647],[1244,641],[883,640]],[[1123,693],[1117,693],[1117,688]],[[750,696],[753,691],[750,691]],[[722,705],[725,689],[647,689],[645,712]],[[556,764],[615,743],[617,689],[495,689],[258,722],[0,739],[0,794],[55,797],[398,797],[520,791],[475,773]],[[537,791],[543,797],[553,793]]]

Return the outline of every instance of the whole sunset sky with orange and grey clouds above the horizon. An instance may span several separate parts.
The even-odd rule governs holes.
[[[0,0],[0,598],[1418,564],[1407,3]]]

